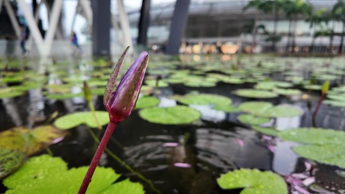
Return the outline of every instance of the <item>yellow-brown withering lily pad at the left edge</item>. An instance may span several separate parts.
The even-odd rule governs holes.
[[[0,133],[0,148],[31,155],[56,143],[57,140],[61,141],[64,136],[65,132],[51,125],[39,126],[33,130],[15,127]]]

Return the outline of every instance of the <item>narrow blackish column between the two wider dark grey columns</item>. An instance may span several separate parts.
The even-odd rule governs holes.
[[[147,29],[150,24],[150,4],[151,0],[142,0],[140,19],[139,19],[139,32],[138,32],[138,44],[147,44]]]

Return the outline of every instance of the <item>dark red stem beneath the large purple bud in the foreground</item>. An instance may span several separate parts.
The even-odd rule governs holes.
[[[111,137],[111,134],[114,131],[114,129],[115,129],[117,124],[118,123],[116,123],[116,122],[110,121],[108,126],[106,127],[104,136],[103,136],[102,140],[99,143],[99,146],[98,146],[98,148],[96,150],[95,155],[93,156],[93,159],[92,159],[92,161],[90,163],[89,169],[87,170],[87,172],[85,174],[83,183],[81,184],[81,186],[79,188],[78,194],[85,194],[85,192],[87,190],[87,187],[89,186],[89,184],[91,182],[92,175],[93,175],[93,173],[96,170],[96,167],[98,165],[99,159],[102,156],[102,154],[104,152],[104,149],[105,149],[105,146],[108,144],[108,141],[109,141],[109,139]]]

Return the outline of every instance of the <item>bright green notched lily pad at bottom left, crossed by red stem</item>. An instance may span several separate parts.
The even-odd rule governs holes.
[[[69,194],[77,193],[88,167],[67,169],[61,158],[41,155],[28,160],[4,180],[6,194]],[[144,194],[143,186],[128,179],[113,183],[121,175],[111,168],[97,167],[88,187],[88,194]]]

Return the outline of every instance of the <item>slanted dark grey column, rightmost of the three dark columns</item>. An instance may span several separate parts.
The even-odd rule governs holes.
[[[177,0],[175,4],[174,15],[172,15],[170,34],[167,41],[165,53],[178,54],[181,46],[181,40],[185,32],[188,19],[188,8],[190,0]]]

